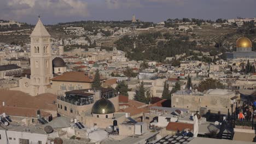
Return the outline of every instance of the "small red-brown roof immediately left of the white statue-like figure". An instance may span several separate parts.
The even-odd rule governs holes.
[[[190,123],[180,123],[180,122],[169,122],[166,126],[166,130],[172,130],[172,131],[182,131],[184,129],[190,129],[193,130],[194,125]]]

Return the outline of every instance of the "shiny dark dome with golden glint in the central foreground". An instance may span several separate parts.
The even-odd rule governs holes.
[[[105,98],[101,98],[100,100],[97,100],[91,109],[91,113],[94,113],[94,114],[108,114],[108,113],[114,113],[114,112],[115,112],[115,106],[110,100]]]

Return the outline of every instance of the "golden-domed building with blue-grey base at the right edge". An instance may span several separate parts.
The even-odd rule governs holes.
[[[252,51],[252,41],[246,37],[241,37],[236,41],[236,51],[226,52],[227,60],[232,59],[253,59],[256,58],[256,52]]]

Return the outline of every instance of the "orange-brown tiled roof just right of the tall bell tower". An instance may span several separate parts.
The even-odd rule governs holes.
[[[71,82],[88,82],[91,83],[94,81],[94,76],[91,77],[89,75],[85,75],[84,72],[80,71],[69,71],[63,73],[60,76],[56,76],[52,81],[71,81]],[[102,79],[103,80],[103,79]]]

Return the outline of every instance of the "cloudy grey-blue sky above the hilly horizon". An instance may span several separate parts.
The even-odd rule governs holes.
[[[256,0],[0,0],[0,19],[35,24],[80,20],[162,22],[175,18],[256,17]]]

